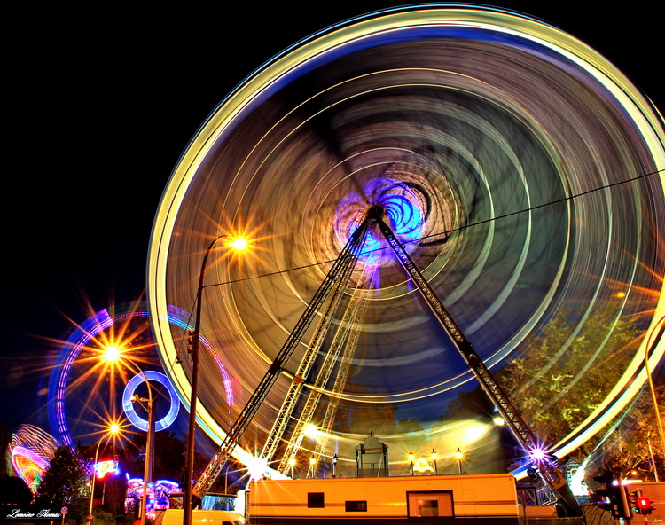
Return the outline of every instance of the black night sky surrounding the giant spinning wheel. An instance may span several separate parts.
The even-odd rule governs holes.
[[[578,3],[579,4],[579,3]],[[90,306],[145,290],[153,216],[171,170],[207,115],[254,68],[319,29],[390,4],[325,13],[246,10],[23,12],[5,51],[11,136],[4,180],[0,420],[37,411],[52,346]],[[394,4],[398,5],[398,4]],[[581,38],[662,110],[661,17],[505,3]],[[576,5],[576,4],[571,4]],[[625,9],[625,7],[624,7]]]

